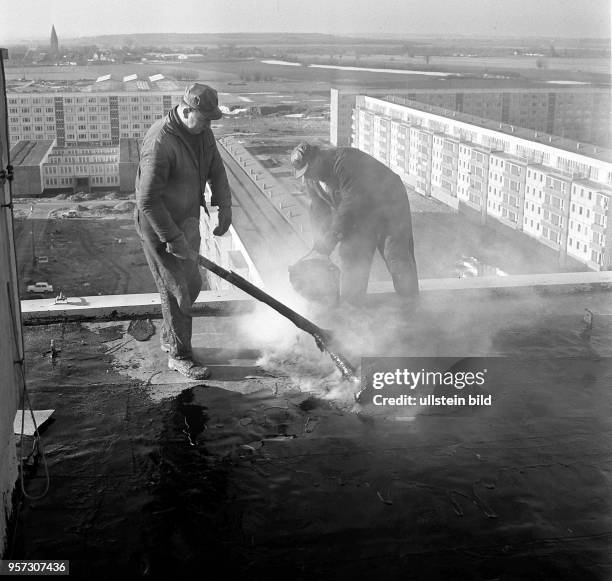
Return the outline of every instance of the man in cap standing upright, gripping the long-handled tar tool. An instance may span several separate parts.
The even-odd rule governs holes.
[[[206,85],[187,88],[182,102],[147,132],[136,176],[136,225],[159,290],[162,350],[168,367],[191,379],[205,379],[208,368],[193,359],[191,309],[202,288],[197,264],[200,207],[210,185],[211,204],[219,207],[213,234],[232,221],[231,192],[211,119],[219,119],[217,92]]]

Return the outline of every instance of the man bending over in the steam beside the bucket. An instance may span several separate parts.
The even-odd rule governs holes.
[[[416,297],[412,217],[400,177],[352,147],[324,150],[303,142],[293,150],[291,163],[310,194],[314,250],[329,256],[339,243],[341,297],[363,300],[377,248],[395,291]]]

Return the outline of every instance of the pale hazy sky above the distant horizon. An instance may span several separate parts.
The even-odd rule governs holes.
[[[610,0],[0,0],[0,41],[139,32],[609,37]]]

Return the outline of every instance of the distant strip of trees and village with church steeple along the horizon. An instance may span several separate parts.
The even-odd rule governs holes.
[[[235,36],[235,35],[234,35]],[[265,35],[264,35],[265,36]],[[306,35],[308,36],[308,35]],[[314,36],[314,35],[312,35]],[[192,44],[184,41],[173,43],[172,39],[166,38],[163,44],[153,44],[153,38],[149,43],[136,43],[133,37],[113,38],[112,41],[92,44],[78,44],[71,40],[69,43],[60,44],[55,26],[52,27],[49,43],[45,45],[31,46],[28,44],[15,44],[10,46],[7,66],[32,66],[32,65],[56,65],[56,66],[84,66],[84,65],[107,65],[124,63],[167,63],[167,62],[194,62],[194,61],[219,61],[231,59],[260,59],[260,58],[284,58],[287,60],[303,61],[317,58],[326,58],[329,62],[338,59],[353,58],[356,65],[362,57],[376,50],[376,45],[369,46],[363,39],[344,39],[338,43],[337,39],[331,42],[329,39],[321,39],[321,43],[304,42],[304,38],[298,36],[286,39],[269,38],[249,39],[251,44],[234,42],[235,39],[219,37],[211,40],[193,38]],[[258,46],[255,46],[255,43]],[[379,47],[378,47],[379,48]],[[465,39],[437,39],[431,42],[426,39],[415,41],[391,41],[385,47],[386,53],[393,61],[396,58],[420,57],[425,64],[436,56],[452,57],[483,57],[483,56],[523,56],[538,57],[541,65],[545,66],[545,60],[549,58],[609,58],[612,47],[608,43],[598,41],[578,40],[570,44],[558,46],[550,39],[523,39],[514,45],[508,43],[482,44],[478,41]],[[327,62],[326,61],[326,62]]]

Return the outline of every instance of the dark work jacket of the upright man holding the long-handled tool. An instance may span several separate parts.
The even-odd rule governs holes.
[[[136,175],[137,220],[141,234],[154,245],[174,240],[179,225],[200,216],[204,189],[210,183],[213,206],[230,206],[231,192],[215,137],[207,128],[200,155],[183,137],[176,109],[147,131]]]

